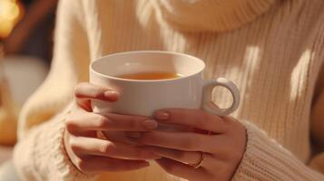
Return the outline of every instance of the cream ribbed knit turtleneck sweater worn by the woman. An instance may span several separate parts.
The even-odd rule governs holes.
[[[207,79],[226,77],[240,88],[233,116],[248,143],[233,180],[324,180],[323,9],[322,0],[62,0],[51,72],[21,114],[16,169],[33,181],[93,178],[64,152],[74,85],[88,80],[89,60],[164,50],[200,57]],[[222,93],[214,99],[231,101]],[[181,180],[155,164],[100,177]]]

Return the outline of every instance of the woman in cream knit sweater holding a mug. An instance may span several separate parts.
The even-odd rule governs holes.
[[[62,0],[52,70],[25,104],[15,167],[25,180],[323,180],[323,7],[321,0]],[[94,114],[89,100],[123,95],[79,83],[88,81],[89,60],[133,50],[200,57],[206,78],[238,85],[241,107],[232,117]],[[231,103],[222,94],[215,100]],[[161,121],[212,134],[165,134],[156,130]],[[142,146],[97,130],[123,130]]]

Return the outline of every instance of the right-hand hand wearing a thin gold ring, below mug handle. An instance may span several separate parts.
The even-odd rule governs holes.
[[[154,118],[192,128],[187,132],[154,130],[130,135],[138,143],[153,146],[153,152],[162,157],[156,161],[166,172],[188,180],[231,180],[247,142],[240,122],[204,110],[184,109],[159,110]]]

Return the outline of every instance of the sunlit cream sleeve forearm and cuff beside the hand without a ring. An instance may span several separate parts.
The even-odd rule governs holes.
[[[15,148],[15,167],[23,180],[93,180],[79,171],[64,148],[64,119],[72,104],[61,114],[28,131]]]

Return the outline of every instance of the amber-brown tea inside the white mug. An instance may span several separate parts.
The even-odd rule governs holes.
[[[182,77],[182,75],[175,72],[152,71],[127,73],[115,77],[129,80],[167,80],[179,78]]]

